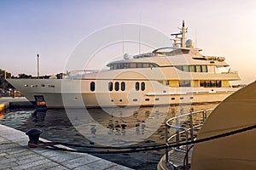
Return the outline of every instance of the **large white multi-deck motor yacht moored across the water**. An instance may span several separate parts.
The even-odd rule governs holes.
[[[172,47],[108,63],[108,70],[69,71],[61,79],[7,79],[30,101],[48,108],[124,107],[219,102],[241,80],[224,57],[201,54],[184,25]]]

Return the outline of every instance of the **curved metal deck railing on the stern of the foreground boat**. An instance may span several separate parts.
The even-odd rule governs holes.
[[[169,146],[173,142],[180,144],[181,142],[194,141],[202,124],[207,120],[207,116],[213,111],[194,111],[180,116],[175,116],[166,121],[166,146]],[[187,153],[189,151],[189,144],[183,147],[177,146],[172,148],[178,152]],[[169,149],[166,147],[166,163],[170,163]],[[188,156],[187,160],[188,162]]]

